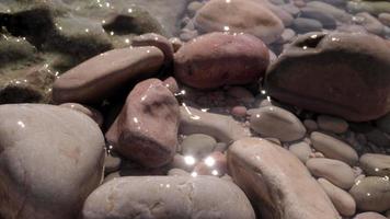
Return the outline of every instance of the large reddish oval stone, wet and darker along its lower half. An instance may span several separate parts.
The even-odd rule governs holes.
[[[174,54],[174,76],[186,85],[216,89],[248,84],[264,76],[268,49],[248,34],[211,33],[186,43]]]

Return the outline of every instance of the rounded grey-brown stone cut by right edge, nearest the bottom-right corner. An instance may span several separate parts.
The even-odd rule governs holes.
[[[369,176],[362,178],[351,188],[357,208],[365,211],[381,212],[390,209],[389,177]]]

